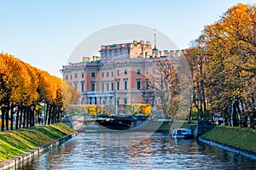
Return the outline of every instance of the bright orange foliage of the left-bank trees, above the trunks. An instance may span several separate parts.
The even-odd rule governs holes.
[[[65,87],[73,95],[69,99],[66,98],[66,103],[72,103],[78,99],[79,94],[75,93],[71,85],[65,83]],[[48,72],[41,71],[10,54],[0,54],[1,110],[4,108],[8,113],[11,107],[18,105],[34,108],[35,105],[46,103],[51,105],[51,111],[60,112],[64,110],[62,94],[60,78],[51,76]],[[57,114],[49,114],[49,120],[55,120],[56,118],[50,118],[50,116]]]

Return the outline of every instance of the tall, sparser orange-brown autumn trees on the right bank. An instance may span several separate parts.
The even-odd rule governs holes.
[[[256,7],[238,4],[206,26],[186,51],[193,106],[201,119],[224,116],[231,126],[256,117]]]

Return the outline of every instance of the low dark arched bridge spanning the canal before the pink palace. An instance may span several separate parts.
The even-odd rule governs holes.
[[[157,130],[168,119],[151,119],[148,116],[65,116],[62,122],[79,132],[86,130]]]

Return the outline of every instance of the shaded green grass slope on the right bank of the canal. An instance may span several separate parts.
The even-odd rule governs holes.
[[[256,130],[252,128],[214,127],[202,137],[256,152]]]

